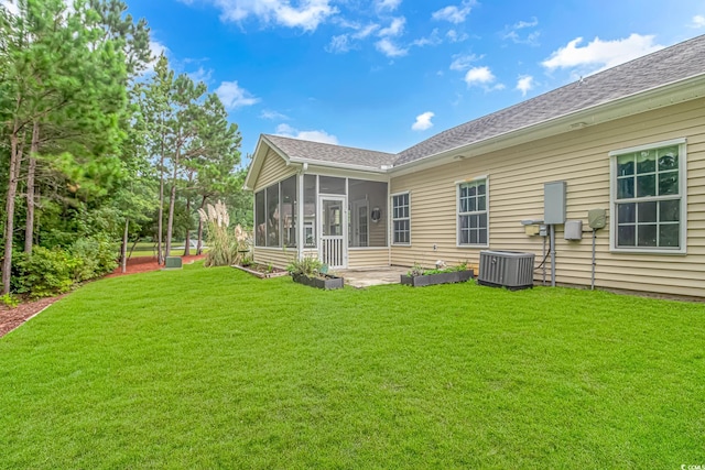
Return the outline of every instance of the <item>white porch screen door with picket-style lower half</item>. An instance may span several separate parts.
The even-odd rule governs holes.
[[[347,210],[345,197],[321,197],[321,244],[318,258],[328,267],[343,269],[347,266]]]

